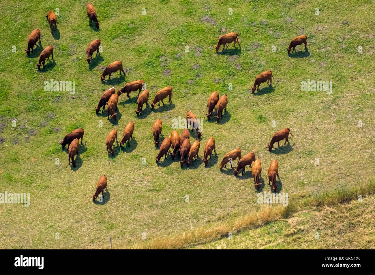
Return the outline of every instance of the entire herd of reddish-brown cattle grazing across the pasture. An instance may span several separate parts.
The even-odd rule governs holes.
[[[86,7],[87,11],[87,16],[90,18],[90,26],[92,24],[92,21],[94,21],[96,28],[99,28],[99,21],[96,18],[96,11],[95,8],[93,7],[92,4],[87,4]],[[45,16],[47,18],[47,21],[50,25],[51,28],[51,33],[53,29],[57,29],[57,17],[54,12],[51,10],[47,13]],[[296,48],[297,45],[302,45],[305,44],[305,49],[306,49],[306,39],[307,37],[305,35],[296,37],[293,39],[290,43],[290,45],[287,48],[288,54],[290,54],[291,49],[293,48],[292,53],[294,52],[294,49]],[[36,45],[37,41],[39,40],[39,43],[41,44],[40,41],[40,30],[35,29],[32,31],[30,36],[28,37],[27,41],[27,55],[30,55],[30,52],[33,52],[33,48]],[[224,36],[221,36],[219,38],[219,41],[217,42],[216,45],[216,52],[219,50],[220,46],[223,45],[223,49],[225,49],[225,46],[228,48],[227,44],[230,44],[234,42],[234,46],[236,43],[240,46],[238,40],[238,33],[228,33]],[[87,54],[87,62],[90,64],[92,60],[92,55],[96,51],[96,56],[98,56],[99,53],[99,46],[101,44],[100,39],[95,39],[92,43],[90,43],[89,47],[87,48],[86,54]],[[38,67],[38,70],[40,69],[40,66],[43,64],[43,68],[45,68],[45,59],[49,60],[49,56],[52,55],[53,59],[53,46],[47,46],[39,55],[39,62],[36,64]],[[108,75],[109,79],[111,79],[111,74],[115,73],[116,71],[120,71],[124,73],[122,62],[121,61],[115,61],[111,64],[109,64],[107,67],[105,67],[103,73],[101,74],[101,80],[104,81],[105,77]],[[267,84],[270,82],[269,85],[272,86],[272,71],[265,71],[258,75],[255,78],[254,86],[252,87],[252,93],[256,91],[256,89],[259,89],[259,85],[261,83],[267,82]],[[142,91],[143,90],[143,91]],[[107,89],[102,97],[99,100],[98,107],[96,107],[96,113],[98,114],[100,109],[102,108],[102,113],[105,110],[105,106],[107,106],[107,119],[117,120],[117,113],[116,110],[118,110],[117,103],[118,103],[118,97],[121,94],[126,93],[127,97],[130,98],[130,92],[138,92],[138,100],[137,100],[137,110],[135,111],[136,116],[138,117],[139,115],[142,114],[142,108],[144,104],[148,105],[148,97],[150,95],[149,91],[145,89],[144,85],[144,80],[136,80],[130,83],[127,83],[122,89],[117,91],[117,94],[115,93],[115,88],[112,87],[110,89]],[[160,106],[160,101],[162,102],[164,106],[163,99],[169,97],[169,101],[171,102],[171,97],[172,97],[172,87],[168,86],[163,89],[161,89],[159,92],[155,94],[154,100],[151,101],[151,110],[154,109],[155,105],[158,104]],[[208,98],[207,101],[207,108],[208,108],[208,113],[206,114],[207,120],[210,120],[212,113],[214,109],[216,109],[216,120],[217,122],[220,121],[220,119],[223,117],[223,111],[226,112],[226,106],[228,104],[228,97],[227,95],[222,95],[219,97],[219,93],[217,91],[213,92],[210,97]],[[198,139],[201,138],[202,131],[199,127],[199,120],[197,119],[196,115],[192,111],[187,111],[186,112],[186,120],[187,120],[187,125],[190,125],[191,131],[193,129],[196,130],[196,134]],[[133,131],[134,131],[134,122],[130,121],[127,126],[124,129],[123,132],[123,138],[120,141],[120,147],[123,147],[124,145],[127,145],[130,147],[130,140],[133,136]],[[161,119],[156,119],[153,127],[152,127],[152,132],[154,136],[154,144],[156,147],[159,147],[159,136],[162,132],[162,120]],[[290,129],[289,128],[284,128],[281,129],[280,131],[276,132],[276,134],[273,135],[270,144],[268,145],[269,151],[272,150],[273,144],[276,142],[278,143],[280,147],[280,141],[285,139],[284,145],[289,142],[288,137],[290,134]],[[71,133],[67,134],[64,139],[61,141],[62,148],[66,145],[68,145],[68,156],[69,156],[69,165],[72,163],[72,165],[75,167],[76,162],[74,157],[78,155],[78,149],[79,149],[79,139],[81,139],[81,144],[83,144],[83,135],[84,135],[84,130],[83,129],[76,129],[72,131]],[[165,156],[165,159],[167,158],[167,155],[171,155],[172,159],[175,159],[175,156],[178,155],[180,157],[180,166],[181,168],[183,167],[184,163],[186,163],[187,166],[191,164],[191,162],[196,160],[198,157],[199,153],[199,147],[200,147],[200,141],[196,139],[195,142],[191,145],[190,144],[190,133],[189,129],[183,129],[181,136],[178,134],[177,131],[172,131],[171,137],[165,137],[160,145],[159,153],[156,156],[156,162],[159,162],[162,156]],[[117,142],[117,129],[113,129],[107,136],[107,139],[105,141],[107,145],[107,151],[109,154],[114,155],[114,142]],[[172,152],[169,152],[169,149],[172,148]],[[204,147],[204,156],[203,156],[203,162],[204,165],[207,166],[208,164],[208,156],[212,155],[212,151],[216,154],[216,144],[215,140],[213,137],[210,137]],[[254,186],[259,190],[260,189],[260,174],[262,171],[261,168],[261,162],[259,159],[255,159],[255,153],[251,152],[245,155],[243,158],[241,156],[241,149],[237,148],[232,150],[231,152],[227,153],[222,161],[219,164],[219,169],[226,168],[226,164],[230,164],[231,168],[232,162],[236,159],[239,159],[237,163],[237,167],[234,169],[234,175],[237,175],[239,171],[242,169],[242,175],[245,172],[245,167],[249,165],[249,168],[252,169],[252,175],[254,177]],[[253,164],[253,165],[252,165]],[[252,166],[251,166],[252,165]],[[274,160],[271,162],[268,170],[268,177],[269,177],[269,184],[272,183],[272,188],[276,192],[277,190],[277,185],[276,185],[276,175],[279,175],[279,164],[277,160]],[[95,201],[96,198],[98,198],[99,193],[102,193],[103,198],[104,198],[104,189],[107,188],[107,177],[105,175],[102,175],[99,178],[98,185],[96,187],[96,192],[95,195],[93,195],[93,201]]]

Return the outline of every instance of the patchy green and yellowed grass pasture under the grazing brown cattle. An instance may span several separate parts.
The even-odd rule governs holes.
[[[30,193],[31,201],[29,207],[0,204],[1,248],[109,248],[110,237],[121,247],[142,241],[143,232],[147,239],[168,236],[260,210],[248,168],[238,177],[233,169],[219,171],[218,162],[237,147],[242,155],[254,151],[262,162],[261,182],[265,184],[259,192],[271,192],[267,170],[272,160],[278,160],[278,192],[288,193],[290,201],[374,178],[372,1],[92,3],[99,30],[89,27],[86,1],[7,1],[0,7],[0,193]],[[52,35],[44,16],[56,8],[58,31]],[[228,15],[229,8],[233,15]],[[315,15],[316,8],[319,15]],[[41,31],[42,45],[38,43],[27,56],[27,37],[35,28]],[[239,33],[242,48],[231,44],[216,53],[219,36],[231,31]],[[288,44],[300,34],[308,36],[308,51],[297,46],[297,53],[288,56]],[[103,51],[98,57],[93,55],[89,66],[86,49],[96,38],[102,40]],[[38,56],[48,45],[55,47],[54,61],[46,61],[45,69],[38,71]],[[102,70],[116,60],[123,62],[126,77],[117,72],[101,82]],[[263,83],[261,91],[252,94],[255,77],[265,70],[273,71],[273,87]],[[50,79],[75,81],[75,94],[44,91],[44,82]],[[172,86],[172,103],[152,111],[147,106],[137,118],[136,93],[132,92],[130,99],[120,96],[117,122],[108,121],[106,112],[95,114],[105,89],[114,86],[117,90],[138,79],[150,91],[149,102],[159,89]],[[332,94],[301,91],[301,82],[308,79],[332,81]],[[204,116],[213,91],[228,95],[228,111],[219,124]],[[183,118],[187,110],[204,119],[200,158],[183,169],[170,156],[157,165],[153,122],[162,119],[162,138],[169,136],[172,119]],[[121,139],[131,120],[135,130],[130,148],[120,150],[118,145],[115,156],[109,157],[105,138],[117,128]],[[273,120],[276,127],[272,127]],[[272,135],[285,127],[293,134],[290,144],[268,152]],[[84,128],[86,135],[74,169],[59,141],[76,128]],[[182,129],[177,131],[181,134]],[[211,136],[217,156],[205,167],[204,144]],[[190,140],[195,138],[193,132]],[[107,196],[102,203],[93,203],[91,194],[102,174],[108,178]],[[185,202],[186,195],[189,202]],[[309,223],[308,215],[321,223],[330,222],[331,214],[324,220],[314,211],[299,214],[300,222]],[[267,230],[279,230],[275,226],[285,238],[295,230],[286,221],[257,229],[264,234],[267,248],[281,248],[272,236],[266,236]],[[366,230],[371,224],[362,227]],[[349,227],[342,228],[345,238],[350,237],[345,231]],[[296,235],[306,237],[299,231]],[[267,246],[270,243],[274,245]],[[234,240],[230,248],[244,247],[235,244]],[[220,243],[207,245],[216,248]],[[261,243],[256,247],[262,247]],[[315,248],[313,244],[306,247]],[[332,243],[321,247],[332,247]]]

